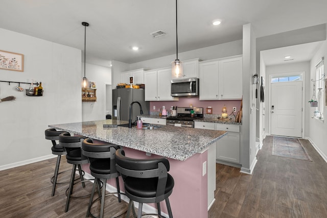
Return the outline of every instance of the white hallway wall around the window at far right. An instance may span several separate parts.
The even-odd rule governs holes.
[[[310,78],[316,78],[316,63],[318,60],[324,57],[324,74],[327,75],[327,41],[324,41],[319,51],[315,54],[315,56],[311,59],[310,62]],[[310,82],[309,90],[313,90],[313,82]],[[312,93],[311,93],[312,95]],[[308,101],[311,99],[311,95],[307,98]],[[325,104],[324,104],[325,105]],[[309,138],[314,144],[316,150],[320,153],[320,155],[327,162],[327,107],[324,107],[324,122],[311,118],[313,111],[315,108],[309,107],[309,122],[308,122],[308,130],[309,130]]]

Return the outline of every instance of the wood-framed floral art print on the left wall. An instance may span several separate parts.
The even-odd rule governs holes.
[[[0,69],[24,71],[24,55],[0,50]]]

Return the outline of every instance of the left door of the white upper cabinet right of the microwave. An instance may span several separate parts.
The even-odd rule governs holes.
[[[200,64],[199,100],[219,100],[218,70],[218,61]]]

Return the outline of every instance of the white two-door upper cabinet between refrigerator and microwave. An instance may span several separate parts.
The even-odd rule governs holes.
[[[177,101],[171,96],[171,67],[144,73],[145,101]]]

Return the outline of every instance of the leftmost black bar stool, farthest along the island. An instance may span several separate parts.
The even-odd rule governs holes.
[[[57,144],[57,142],[56,142],[59,140],[59,135],[61,133],[65,133],[65,131],[57,131],[56,129],[53,129],[53,128],[46,129],[44,131],[45,139],[49,139],[52,141],[52,148],[51,148],[52,154],[57,155],[55,174],[51,178],[51,182],[53,183],[51,196],[55,195],[56,185],[59,184],[59,183],[57,183],[57,178],[58,178],[58,175],[60,174],[58,172],[59,172],[61,155],[67,154],[66,151],[64,150],[64,148],[62,148],[62,146],[60,146],[60,144]],[[63,173],[63,172],[61,172],[61,173]]]

